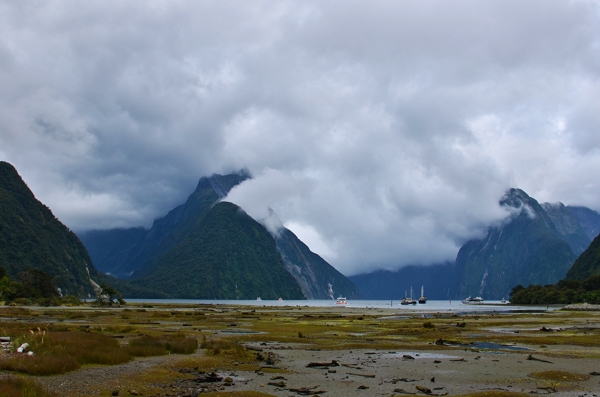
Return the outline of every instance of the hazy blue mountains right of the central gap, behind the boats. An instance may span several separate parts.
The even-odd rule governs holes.
[[[501,299],[518,284],[554,284],[563,279],[600,230],[597,212],[561,203],[539,204],[520,189],[510,189],[500,205],[511,215],[489,227],[484,238],[465,243],[454,262],[350,279],[371,299],[397,297],[409,286],[422,284],[430,299],[469,295]]]

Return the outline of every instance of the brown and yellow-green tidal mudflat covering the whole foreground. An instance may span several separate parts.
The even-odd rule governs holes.
[[[14,395],[600,395],[597,311],[0,307],[0,337]]]

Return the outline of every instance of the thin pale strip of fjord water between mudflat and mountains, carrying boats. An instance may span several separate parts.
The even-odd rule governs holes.
[[[527,305],[516,306],[503,304],[500,301],[486,301],[485,304],[469,305],[459,300],[428,300],[426,304],[400,305],[400,301],[384,300],[348,300],[346,305],[338,305],[335,300],[226,300],[226,299],[127,299],[127,302],[141,304],[171,305],[240,305],[251,307],[337,307],[344,309],[380,309],[394,312],[519,312],[555,310],[562,305]]]

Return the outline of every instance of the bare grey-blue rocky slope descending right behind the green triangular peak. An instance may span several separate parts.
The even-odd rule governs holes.
[[[296,279],[307,299],[358,299],[356,286],[288,229],[275,236],[277,249],[288,272]]]

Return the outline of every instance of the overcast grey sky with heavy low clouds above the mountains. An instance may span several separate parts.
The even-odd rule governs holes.
[[[592,1],[0,1],[0,159],[75,231],[202,176],[347,275],[454,260],[509,187],[600,210]]]

